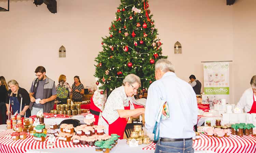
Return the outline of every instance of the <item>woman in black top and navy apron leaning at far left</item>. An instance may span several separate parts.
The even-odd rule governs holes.
[[[28,91],[24,88],[19,87],[19,84],[16,80],[10,80],[8,82],[8,86],[10,87],[10,89],[7,92],[8,96],[6,97],[6,107],[7,107],[6,114],[8,115],[9,100],[10,100],[13,113],[18,111],[20,115],[24,116],[26,113],[26,117],[29,117],[31,113],[30,113],[30,109],[28,109],[30,104]],[[22,111],[20,112],[21,98],[22,98],[22,107],[21,107]]]

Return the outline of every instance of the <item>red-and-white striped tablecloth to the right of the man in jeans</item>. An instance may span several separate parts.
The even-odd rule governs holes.
[[[143,150],[154,150],[156,144],[154,142],[142,148]],[[196,151],[214,151],[216,153],[255,153],[256,137],[255,136],[237,136],[217,138],[208,137],[206,134],[200,134],[200,140],[195,140],[193,148]]]

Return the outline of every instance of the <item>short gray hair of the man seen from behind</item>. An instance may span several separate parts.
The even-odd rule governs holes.
[[[168,72],[168,71],[175,72],[174,66],[172,65],[172,63],[164,58],[162,58],[156,62],[155,70],[157,70],[157,69],[161,70],[164,73]]]

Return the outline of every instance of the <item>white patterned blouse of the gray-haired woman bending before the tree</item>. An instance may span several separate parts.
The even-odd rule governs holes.
[[[130,109],[134,109],[134,106],[132,104],[132,97],[127,97],[125,94],[124,86],[120,86],[114,89],[109,95],[101,115],[104,117],[104,119],[106,119],[109,122],[109,124],[112,124],[114,121],[116,121],[119,118],[117,109],[125,109],[124,107],[129,106],[129,101],[130,101]],[[98,125],[105,126],[106,128],[104,129],[104,132],[108,134],[109,125],[102,118],[102,116],[99,117]]]

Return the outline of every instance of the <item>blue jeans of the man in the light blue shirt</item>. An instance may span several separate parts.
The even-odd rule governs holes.
[[[160,141],[156,143],[155,153],[194,153],[193,142],[191,140],[183,141]]]

